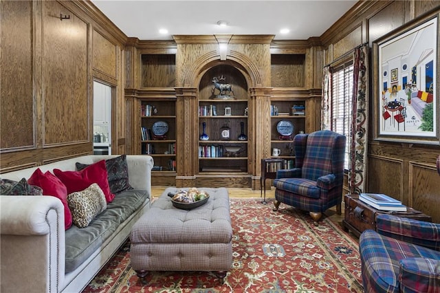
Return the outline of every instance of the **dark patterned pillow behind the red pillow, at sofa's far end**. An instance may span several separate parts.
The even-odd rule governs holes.
[[[89,165],[77,162],[76,170],[81,171],[87,166]],[[126,155],[105,160],[105,169],[107,169],[107,179],[109,180],[111,193],[133,189],[129,184],[129,168],[126,164]]]

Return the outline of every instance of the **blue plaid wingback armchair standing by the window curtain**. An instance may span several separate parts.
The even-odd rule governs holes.
[[[329,130],[295,135],[295,168],[277,171],[274,210],[281,202],[307,210],[316,226],[332,206],[340,215],[345,142],[344,135]]]

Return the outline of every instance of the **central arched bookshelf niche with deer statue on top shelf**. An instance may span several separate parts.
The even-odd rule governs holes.
[[[231,90],[222,94],[217,88],[221,83]],[[199,175],[248,174],[248,85],[243,74],[230,65],[208,70],[199,85],[198,111]]]

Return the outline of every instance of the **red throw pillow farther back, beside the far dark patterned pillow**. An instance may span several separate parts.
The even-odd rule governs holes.
[[[107,204],[112,202],[115,195],[110,192],[109,181],[107,180],[107,169],[105,160],[87,166],[81,171],[62,171],[54,169],[56,177],[67,187],[67,194],[83,191],[93,183],[97,183],[104,192]]]

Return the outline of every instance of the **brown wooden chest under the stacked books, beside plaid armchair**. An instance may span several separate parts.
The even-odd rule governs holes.
[[[377,210],[373,206],[365,204],[359,199],[359,195],[344,196],[345,210],[342,225],[346,231],[351,230],[353,234],[359,237],[366,229],[376,230],[376,217],[381,214],[392,214],[397,217],[408,217],[420,221],[432,221],[432,218],[425,215],[414,208],[407,209],[406,212],[388,212],[385,210]]]

